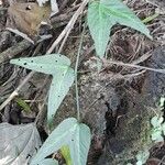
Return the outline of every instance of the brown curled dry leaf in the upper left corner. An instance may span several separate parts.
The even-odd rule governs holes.
[[[37,34],[41,22],[48,22],[51,15],[51,7],[38,7],[37,3],[13,3],[8,9],[7,28],[18,30],[28,36]]]

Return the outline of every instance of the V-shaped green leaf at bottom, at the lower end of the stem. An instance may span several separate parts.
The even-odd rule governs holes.
[[[75,118],[64,120],[38,150],[34,160],[32,160],[32,165],[36,165],[63,145],[69,146],[73,165],[86,165],[90,145],[89,128],[78,123]]]

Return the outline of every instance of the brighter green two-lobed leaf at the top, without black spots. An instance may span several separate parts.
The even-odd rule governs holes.
[[[92,1],[88,8],[88,26],[99,57],[103,57],[110,30],[117,23],[130,26],[152,38],[146,26],[122,1]]]

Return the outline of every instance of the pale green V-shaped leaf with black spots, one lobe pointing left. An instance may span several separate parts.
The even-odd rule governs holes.
[[[48,96],[48,123],[52,122],[59,105],[67,95],[74,82],[74,69],[70,68],[70,61],[64,55],[51,54],[37,57],[11,59],[11,64],[23,66],[28,69],[53,75]]]

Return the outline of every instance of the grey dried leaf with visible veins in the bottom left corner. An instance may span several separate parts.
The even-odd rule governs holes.
[[[41,145],[33,123],[22,125],[0,124],[0,164],[26,165]]]

